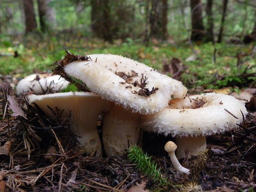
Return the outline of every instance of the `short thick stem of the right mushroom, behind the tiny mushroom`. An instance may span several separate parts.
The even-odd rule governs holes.
[[[206,138],[202,135],[176,137],[178,159],[186,157],[185,151],[188,151],[188,157],[198,155],[198,152],[206,150]]]

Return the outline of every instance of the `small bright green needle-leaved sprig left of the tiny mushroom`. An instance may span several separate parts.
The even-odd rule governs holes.
[[[161,174],[161,169],[157,169],[157,164],[152,162],[151,157],[144,153],[142,149],[138,146],[131,146],[128,149],[128,159],[137,163],[136,168],[139,169],[143,174],[147,175],[151,179],[154,179],[160,185],[165,186],[167,183],[167,177],[163,178]]]

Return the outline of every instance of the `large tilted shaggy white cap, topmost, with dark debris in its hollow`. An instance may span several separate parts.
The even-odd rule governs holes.
[[[124,108],[142,114],[154,113],[167,107],[172,97],[186,95],[186,87],[180,81],[145,64],[119,55],[89,56],[92,61],[73,61],[64,67],[65,72],[83,81],[102,98]],[[143,80],[146,84],[141,88],[138,84]]]

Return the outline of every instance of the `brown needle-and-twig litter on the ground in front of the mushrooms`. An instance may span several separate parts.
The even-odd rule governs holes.
[[[163,149],[171,137],[145,132],[144,151],[172,183],[163,186],[143,175],[126,156],[77,154],[73,151],[76,137],[63,128],[63,123],[59,126],[64,117],[48,119],[29,108],[24,98],[11,100],[4,92],[1,98],[0,191],[127,191],[131,186],[151,191],[256,190],[256,103],[247,105],[250,113],[240,128],[207,137],[209,150],[204,157],[181,161],[187,168],[199,167],[192,176],[180,175],[172,167]]]

